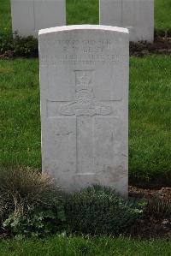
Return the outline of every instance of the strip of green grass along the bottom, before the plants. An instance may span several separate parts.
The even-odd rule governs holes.
[[[45,241],[2,241],[3,256],[170,256],[171,242],[128,238],[59,237]]]

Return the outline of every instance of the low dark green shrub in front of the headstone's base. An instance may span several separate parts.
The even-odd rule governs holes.
[[[144,201],[127,200],[110,188],[93,186],[68,195],[68,232],[119,235],[143,215]]]

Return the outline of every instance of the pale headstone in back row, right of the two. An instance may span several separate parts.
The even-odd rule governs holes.
[[[130,41],[154,40],[154,0],[100,0],[100,24],[127,27]]]

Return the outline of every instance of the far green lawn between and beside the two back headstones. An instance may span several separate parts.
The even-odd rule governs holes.
[[[171,31],[171,0],[155,0],[155,29]],[[98,0],[67,0],[67,23],[98,24]],[[11,33],[10,0],[1,0],[0,33]]]

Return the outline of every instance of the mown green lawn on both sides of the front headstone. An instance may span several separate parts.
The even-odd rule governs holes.
[[[129,176],[171,177],[171,58],[131,58]],[[41,168],[38,60],[0,61],[0,164]],[[168,184],[169,185],[169,184]]]

